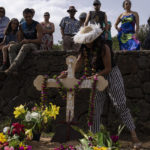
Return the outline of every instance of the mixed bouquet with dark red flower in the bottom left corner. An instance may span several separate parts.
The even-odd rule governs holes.
[[[32,150],[25,144],[24,125],[13,123],[11,127],[5,127],[0,133],[0,150]]]

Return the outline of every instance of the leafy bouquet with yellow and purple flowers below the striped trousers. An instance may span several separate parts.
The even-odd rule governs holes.
[[[78,150],[119,150],[119,135],[122,132],[123,127],[119,126],[118,134],[110,136],[110,133],[106,128],[101,125],[100,132],[93,134],[89,131],[87,134],[80,128],[73,126],[73,128],[83,135],[83,139],[80,140],[80,145],[76,148]]]

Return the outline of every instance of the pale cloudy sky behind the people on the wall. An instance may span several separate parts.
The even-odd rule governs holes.
[[[131,0],[132,10],[139,13],[140,24],[146,24],[150,16],[150,0]],[[108,20],[112,22],[112,36],[117,35],[114,28],[117,17],[124,12],[122,8],[123,0],[101,0],[101,10],[105,11]],[[6,16],[11,18],[23,17],[22,11],[25,8],[34,8],[34,20],[39,22],[43,21],[44,12],[48,11],[51,14],[50,21],[55,24],[54,42],[57,43],[61,40],[59,23],[61,19],[68,16],[67,9],[69,6],[74,5],[78,12],[76,18],[78,19],[81,12],[89,12],[93,10],[93,0],[0,0],[0,5],[5,7]]]

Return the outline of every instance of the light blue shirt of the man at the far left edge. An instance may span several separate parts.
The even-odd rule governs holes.
[[[4,38],[4,31],[9,21],[10,21],[9,18],[5,16],[0,19],[0,38]]]

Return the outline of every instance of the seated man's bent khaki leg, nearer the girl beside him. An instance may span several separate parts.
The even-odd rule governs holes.
[[[10,64],[13,63],[14,59],[17,56],[17,52],[20,48],[21,48],[20,44],[10,44],[8,48]]]

